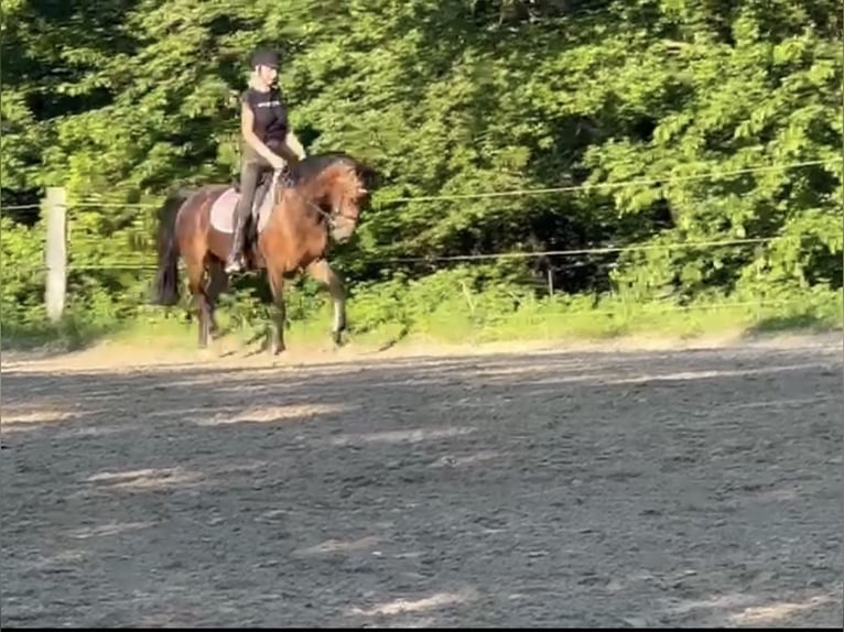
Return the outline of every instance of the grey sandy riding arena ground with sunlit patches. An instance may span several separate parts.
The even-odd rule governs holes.
[[[842,624],[841,335],[4,356],[2,625]]]

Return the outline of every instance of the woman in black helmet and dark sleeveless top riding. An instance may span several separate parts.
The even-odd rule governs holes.
[[[290,129],[288,108],[275,86],[279,55],[259,50],[252,55],[249,87],[240,95],[240,200],[238,201],[231,251],[226,272],[240,272],[245,246],[245,228],[262,172],[282,170],[305,156],[302,144]]]

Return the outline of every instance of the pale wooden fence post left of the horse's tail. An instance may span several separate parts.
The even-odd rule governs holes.
[[[67,291],[67,192],[62,186],[47,188],[46,197],[46,286],[44,299],[47,317],[62,318]]]

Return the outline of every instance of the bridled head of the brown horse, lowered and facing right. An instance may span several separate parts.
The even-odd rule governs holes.
[[[348,241],[370,199],[375,171],[343,153],[309,156],[296,171],[302,193],[327,218],[332,238]]]

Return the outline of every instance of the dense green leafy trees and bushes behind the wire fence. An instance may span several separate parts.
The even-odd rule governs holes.
[[[99,205],[69,210],[75,317],[138,314],[151,274],[132,268],[155,261],[155,205],[173,185],[237,170],[231,97],[259,43],[282,51],[307,149],[343,149],[381,173],[356,241],[336,255],[360,333],[455,314],[484,329],[512,309],[542,318],[602,301],[841,292],[837,2],[353,0],[331,18],[325,7],[2,0],[2,201],[63,185]],[[396,201],[424,197],[445,199]],[[43,227],[11,217],[7,330],[43,322]],[[735,239],[770,243],[659,248]],[[383,263],[630,246],[647,248],[551,261],[552,298],[531,259]],[[242,290],[229,305],[238,322],[261,315],[255,285]],[[539,304],[552,307],[527,307]],[[304,284],[291,305],[305,320],[325,297]]]

